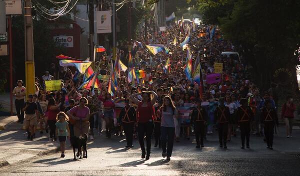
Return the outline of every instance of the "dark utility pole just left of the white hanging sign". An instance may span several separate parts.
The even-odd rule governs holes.
[[[89,60],[94,61],[94,12],[93,0],[88,0],[88,20],[89,20]]]

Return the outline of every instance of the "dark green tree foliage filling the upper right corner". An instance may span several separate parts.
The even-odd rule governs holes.
[[[297,0],[198,0],[197,9],[203,21],[219,25],[225,39],[230,40],[262,87],[273,81],[275,69],[286,67],[296,80],[299,64],[300,1]],[[294,84],[295,85],[295,84]]]

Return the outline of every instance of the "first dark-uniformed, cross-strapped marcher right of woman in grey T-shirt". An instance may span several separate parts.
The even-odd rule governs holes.
[[[197,107],[191,113],[191,123],[194,124],[194,131],[196,136],[196,148],[204,147],[203,139],[205,135],[205,124],[207,122],[207,113],[201,107],[201,100],[196,100]],[[200,140],[199,140],[200,138]]]

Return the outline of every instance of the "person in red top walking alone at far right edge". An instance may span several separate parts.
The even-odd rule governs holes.
[[[281,108],[281,119],[285,122],[286,127],[286,138],[291,137],[291,130],[292,130],[292,121],[293,121],[293,113],[296,109],[295,104],[292,102],[291,97],[286,98],[286,103],[282,105]]]

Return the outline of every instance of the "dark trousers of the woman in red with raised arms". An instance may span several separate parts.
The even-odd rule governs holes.
[[[138,125],[137,125],[138,141],[139,141],[140,149],[142,152],[145,152],[145,145],[144,145],[143,138],[146,135],[147,155],[150,155],[150,152],[151,152],[151,135],[152,135],[153,129],[154,129],[153,122],[138,123]]]

